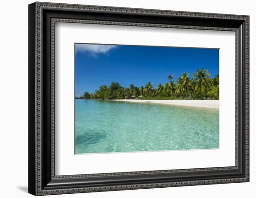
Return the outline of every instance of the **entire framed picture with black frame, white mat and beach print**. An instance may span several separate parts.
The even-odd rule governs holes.
[[[29,193],[249,182],[249,16],[28,13]]]

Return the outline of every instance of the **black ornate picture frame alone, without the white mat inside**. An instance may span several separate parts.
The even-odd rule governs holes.
[[[236,32],[236,166],[55,176],[54,23]],[[249,16],[35,2],[28,6],[28,192],[33,195],[249,182]]]

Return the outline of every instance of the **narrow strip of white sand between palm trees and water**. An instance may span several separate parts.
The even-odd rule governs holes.
[[[219,100],[151,100],[151,99],[113,99],[114,101],[135,102],[135,103],[155,103],[175,106],[193,106],[202,108],[219,109]]]

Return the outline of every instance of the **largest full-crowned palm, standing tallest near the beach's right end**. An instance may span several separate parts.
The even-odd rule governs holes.
[[[209,80],[210,74],[208,73],[208,70],[202,68],[201,70],[196,70],[196,73],[192,75],[192,77],[195,77],[195,91],[202,93],[203,98],[205,99],[205,93],[209,89],[210,86],[210,80]]]

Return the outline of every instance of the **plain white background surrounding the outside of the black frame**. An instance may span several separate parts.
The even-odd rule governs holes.
[[[1,2],[0,20],[0,196],[27,194],[27,4],[31,0]],[[48,2],[114,7],[250,15],[250,182],[175,188],[111,191],[55,197],[254,197],[256,186],[256,13],[253,0],[48,0]],[[53,197],[53,196],[49,196]]]

